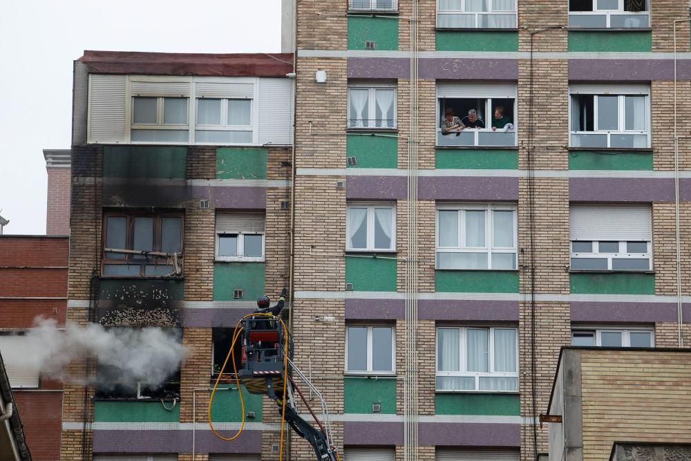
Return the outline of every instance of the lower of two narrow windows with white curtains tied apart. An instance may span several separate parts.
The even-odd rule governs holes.
[[[345,250],[393,251],[396,209],[392,203],[349,203],[345,219]]]

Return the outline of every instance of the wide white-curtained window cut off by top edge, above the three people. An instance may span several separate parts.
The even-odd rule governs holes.
[[[437,27],[515,29],[516,0],[437,0]]]

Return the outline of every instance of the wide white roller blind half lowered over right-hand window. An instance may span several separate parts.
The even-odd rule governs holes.
[[[571,205],[571,241],[651,241],[647,205]]]

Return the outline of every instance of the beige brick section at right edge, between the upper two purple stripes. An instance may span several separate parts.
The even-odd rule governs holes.
[[[652,100],[653,166],[656,170],[674,170],[674,82],[653,80],[650,85]],[[691,120],[691,82],[676,84],[679,136],[688,136],[686,121]],[[679,140],[679,167],[691,168],[691,139]]]

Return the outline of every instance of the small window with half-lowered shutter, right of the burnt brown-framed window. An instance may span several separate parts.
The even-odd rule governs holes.
[[[217,261],[264,261],[263,213],[216,215]]]

